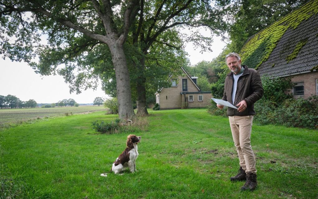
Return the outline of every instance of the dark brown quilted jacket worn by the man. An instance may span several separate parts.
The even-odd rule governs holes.
[[[247,108],[243,112],[239,112],[237,109],[228,107],[228,116],[255,115],[254,103],[259,100],[264,93],[259,73],[255,69],[247,68],[246,65],[242,65],[242,67],[244,67],[244,72],[243,75],[239,77],[237,83],[234,103],[232,103],[232,88],[234,82],[232,72],[230,72],[225,78],[224,93],[222,99],[234,104],[234,106],[236,106],[236,104],[238,104],[242,100],[245,100],[247,103]]]

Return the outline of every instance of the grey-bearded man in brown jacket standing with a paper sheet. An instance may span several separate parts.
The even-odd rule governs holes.
[[[222,99],[232,103],[238,109],[227,108],[234,145],[239,155],[239,173],[231,177],[231,181],[245,181],[241,190],[254,190],[256,181],[256,162],[251,147],[251,131],[254,103],[264,93],[259,73],[247,66],[241,66],[241,58],[237,53],[226,55],[225,62],[231,72],[225,78]],[[218,105],[223,109],[223,105]]]

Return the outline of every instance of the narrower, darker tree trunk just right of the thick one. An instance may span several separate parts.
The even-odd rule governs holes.
[[[137,77],[137,115],[147,116],[146,108],[146,77],[144,74],[145,57],[140,60],[139,75]]]

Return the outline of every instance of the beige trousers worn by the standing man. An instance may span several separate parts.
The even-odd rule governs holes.
[[[256,162],[251,146],[253,116],[229,116],[234,145],[239,155],[239,165],[256,174]]]

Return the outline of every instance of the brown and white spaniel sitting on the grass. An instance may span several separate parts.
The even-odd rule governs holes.
[[[136,135],[128,135],[126,142],[126,149],[119,155],[114,161],[113,167],[110,172],[114,174],[120,173],[124,168],[129,167],[131,173],[135,173],[136,170],[136,159],[139,155],[137,144],[140,142],[141,137]],[[106,177],[107,174],[100,174]]]

